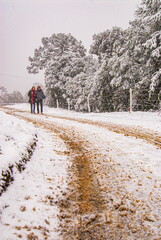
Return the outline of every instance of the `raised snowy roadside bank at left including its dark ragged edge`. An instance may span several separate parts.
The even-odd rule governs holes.
[[[24,168],[36,145],[36,129],[31,123],[0,111],[0,194],[17,171]]]

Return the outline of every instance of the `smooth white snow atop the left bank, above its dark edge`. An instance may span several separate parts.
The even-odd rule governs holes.
[[[16,117],[9,116],[0,111],[0,171],[12,164],[15,159],[21,159],[21,155],[26,152],[29,144],[35,138],[36,129],[33,124]],[[7,159],[6,159],[7,156]]]

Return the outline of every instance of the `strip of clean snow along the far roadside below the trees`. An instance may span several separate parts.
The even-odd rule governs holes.
[[[18,104],[10,106],[15,109],[29,112],[29,104]],[[112,113],[78,113],[74,111],[63,110],[60,108],[49,108],[45,106],[45,114],[64,116],[71,118],[90,119],[93,121],[112,122],[130,126],[140,126],[161,133],[161,113],[158,112],[112,112]]]

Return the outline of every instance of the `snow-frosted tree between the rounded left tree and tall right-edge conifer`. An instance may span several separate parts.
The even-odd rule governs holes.
[[[123,59],[125,32],[114,27],[94,35],[93,40],[90,52],[99,59],[99,69],[91,90],[95,96],[95,109],[113,111],[128,108],[127,81],[123,77],[128,64],[126,58]]]

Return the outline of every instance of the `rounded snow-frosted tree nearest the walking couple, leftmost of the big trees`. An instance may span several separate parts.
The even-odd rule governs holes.
[[[67,107],[66,84],[83,68],[82,58],[86,49],[71,34],[58,33],[42,39],[43,47],[35,49],[34,57],[29,58],[29,73],[45,69],[47,102],[51,106]]]

